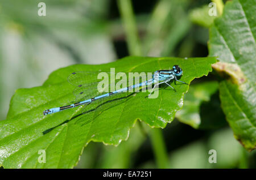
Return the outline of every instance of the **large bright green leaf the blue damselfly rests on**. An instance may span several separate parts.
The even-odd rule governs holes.
[[[7,119],[0,122],[0,164],[5,168],[72,168],[86,144],[94,141],[118,145],[128,138],[137,119],[151,127],[165,127],[182,108],[184,93],[189,88],[186,84],[172,83],[176,92],[159,89],[158,98],[145,98],[148,93],[137,93],[81,126],[76,115],[81,114],[82,107],[43,115],[45,109],[73,102],[73,86],[67,82],[72,72],[110,71],[113,67],[115,72],[154,72],[177,64],[183,69],[180,80],[190,83],[207,75],[215,62],[214,57],[127,57],[104,65],[61,68],[53,72],[42,87],[16,91]],[[46,163],[38,162],[40,149],[46,150]]]

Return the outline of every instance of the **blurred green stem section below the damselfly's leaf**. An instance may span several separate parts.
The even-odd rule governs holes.
[[[169,168],[168,155],[164,144],[162,130],[160,128],[152,128],[150,139],[158,168]]]

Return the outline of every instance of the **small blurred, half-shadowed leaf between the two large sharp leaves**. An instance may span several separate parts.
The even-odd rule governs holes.
[[[184,106],[176,118],[193,128],[219,128],[226,125],[220,108],[218,82],[203,82],[190,86],[184,96]]]

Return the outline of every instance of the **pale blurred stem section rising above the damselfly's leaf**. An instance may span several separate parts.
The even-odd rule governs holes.
[[[126,31],[129,53],[130,55],[142,55],[131,1],[118,0],[117,3]]]

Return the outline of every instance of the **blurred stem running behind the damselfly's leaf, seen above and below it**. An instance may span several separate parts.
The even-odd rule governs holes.
[[[130,55],[142,55],[131,1],[118,0],[117,3],[126,31],[129,53]],[[168,156],[162,131],[159,128],[152,128],[150,132],[150,139],[158,168],[168,168]]]

